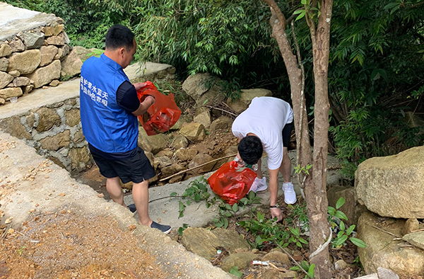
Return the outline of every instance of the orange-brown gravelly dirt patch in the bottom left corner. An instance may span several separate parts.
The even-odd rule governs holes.
[[[155,258],[112,217],[66,208],[40,212],[1,236],[0,279],[165,278]]]

